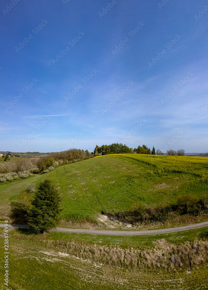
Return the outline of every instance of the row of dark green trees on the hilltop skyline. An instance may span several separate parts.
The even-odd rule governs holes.
[[[137,148],[129,148],[126,146],[126,144],[122,143],[113,143],[111,145],[102,145],[95,147],[94,150],[95,154],[101,154],[101,155],[107,155],[107,154],[122,154],[122,153],[130,153],[130,154],[152,154],[152,155],[165,155],[160,149],[157,149],[155,152],[155,148],[153,146],[152,150],[148,148],[146,145],[138,146]],[[184,156],[185,150],[179,149],[178,151],[175,151],[173,149],[167,150],[166,155],[178,155],[178,156]]]

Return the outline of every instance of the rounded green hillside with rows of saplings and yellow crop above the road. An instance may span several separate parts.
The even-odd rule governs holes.
[[[176,203],[178,195],[207,193],[207,159],[187,156],[116,154],[60,166],[50,173],[0,186],[2,210],[29,184],[49,178],[62,195],[63,219],[128,210],[142,201]]]

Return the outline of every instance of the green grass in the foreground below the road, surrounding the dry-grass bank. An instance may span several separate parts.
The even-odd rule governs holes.
[[[176,233],[185,240],[193,241],[204,237],[206,229],[197,229]],[[173,234],[167,234],[166,239],[172,241]],[[185,236],[185,237],[184,237]],[[190,272],[180,268],[165,271],[165,269],[128,270],[119,267],[95,263],[91,260],[77,259],[73,255],[65,255],[55,248],[55,243],[47,241],[73,240],[79,242],[99,243],[103,236],[77,235],[65,233],[50,233],[45,235],[31,235],[27,231],[10,230],[9,233],[9,288],[0,281],[1,290],[156,290],[156,289],[206,289],[208,283],[208,267],[195,267]],[[105,237],[102,244],[115,244],[125,247],[152,247],[152,241],[158,235],[145,241],[144,237]],[[133,238],[133,240],[132,240]],[[175,237],[176,238],[176,237]],[[95,240],[97,239],[97,241]],[[126,239],[126,240],[125,240]],[[3,245],[3,229],[0,228],[0,244]],[[125,244],[124,244],[125,242]],[[53,247],[54,244],[54,247]],[[0,275],[4,275],[3,249],[1,251]]]

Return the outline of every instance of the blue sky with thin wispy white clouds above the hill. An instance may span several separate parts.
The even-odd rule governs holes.
[[[193,2],[2,1],[0,150],[207,151],[208,3]]]

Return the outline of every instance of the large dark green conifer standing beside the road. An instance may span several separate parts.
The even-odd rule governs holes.
[[[38,185],[35,192],[32,207],[28,212],[28,224],[36,233],[44,233],[52,228],[56,228],[60,221],[61,198],[58,191],[46,179]]]

